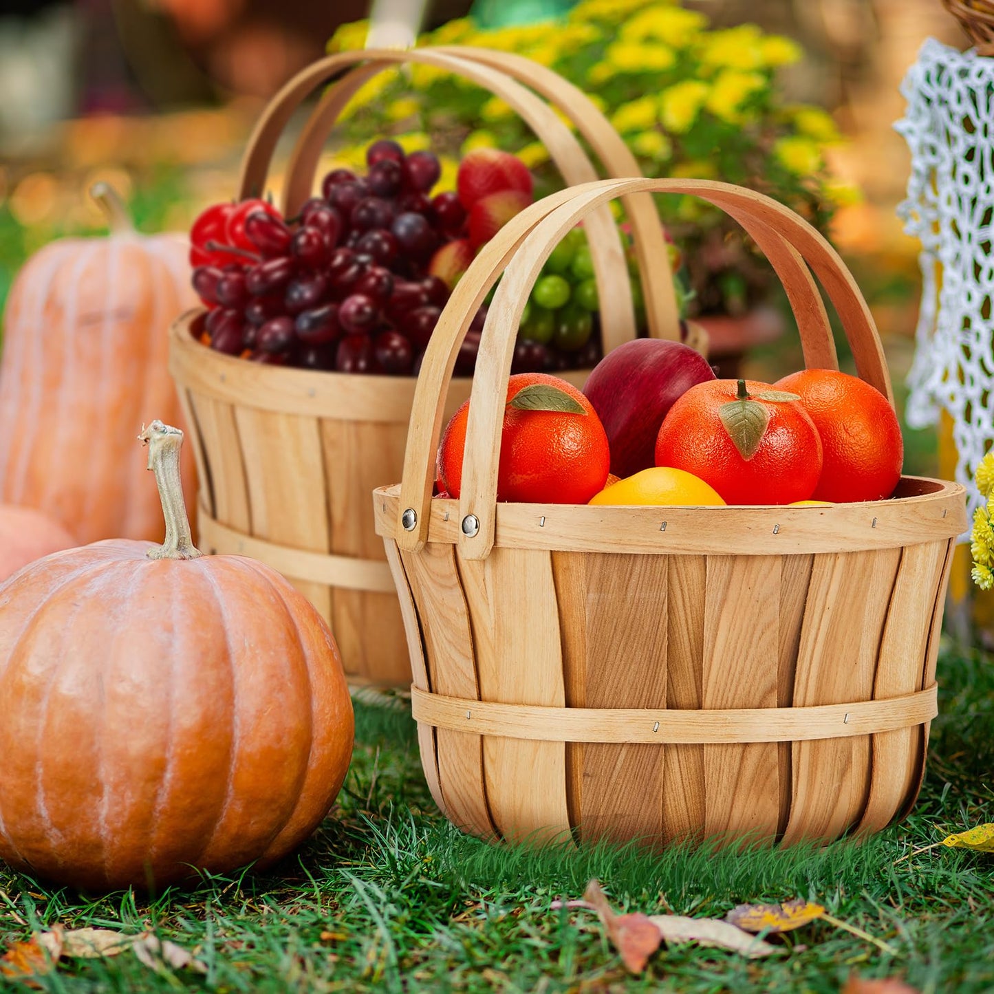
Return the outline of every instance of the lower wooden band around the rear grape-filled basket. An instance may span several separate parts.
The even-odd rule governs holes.
[[[224,556],[248,556],[260,560],[284,577],[367,593],[397,592],[390,566],[385,561],[315,553],[246,535],[223,525],[201,501],[197,504],[197,529],[205,551],[210,549],[212,553]]]

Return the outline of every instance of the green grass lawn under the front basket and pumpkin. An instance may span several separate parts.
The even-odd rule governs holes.
[[[56,921],[152,927],[208,966],[204,977],[156,974],[124,953],[64,963],[44,979],[48,991],[827,994],[854,970],[900,974],[923,992],[994,991],[994,856],[940,848],[897,862],[947,830],[994,820],[994,660],[946,649],[939,678],[941,714],[915,812],[862,845],[657,855],[490,846],[435,810],[408,716],[359,705],[338,806],[275,872],[205,879],[148,901],[83,897],[0,871],[0,938]],[[589,912],[550,910],[557,897],[579,897],[590,877],[630,911],[722,915],[741,902],[817,899],[898,955],[815,922],[788,936],[775,960],[678,946],[630,978]]]

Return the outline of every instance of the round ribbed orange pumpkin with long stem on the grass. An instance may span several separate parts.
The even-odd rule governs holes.
[[[263,564],[194,548],[182,432],[142,437],[165,544],[97,542],[0,586],[0,858],[80,888],[271,863],[352,755],[328,627]]]

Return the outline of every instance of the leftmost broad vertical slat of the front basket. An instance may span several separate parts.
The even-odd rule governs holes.
[[[473,635],[453,548],[429,545],[415,556],[402,552],[401,561],[414,594],[431,686],[438,694],[476,700]],[[492,835],[480,736],[438,728],[435,743],[446,816],[467,832]]]

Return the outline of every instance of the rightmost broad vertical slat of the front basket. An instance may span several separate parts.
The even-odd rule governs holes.
[[[946,547],[945,542],[928,542],[902,552],[877,659],[876,699],[918,689]],[[859,831],[880,831],[905,804],[919,774],[921,732],[902,729],[873,737],[870,796]]]

